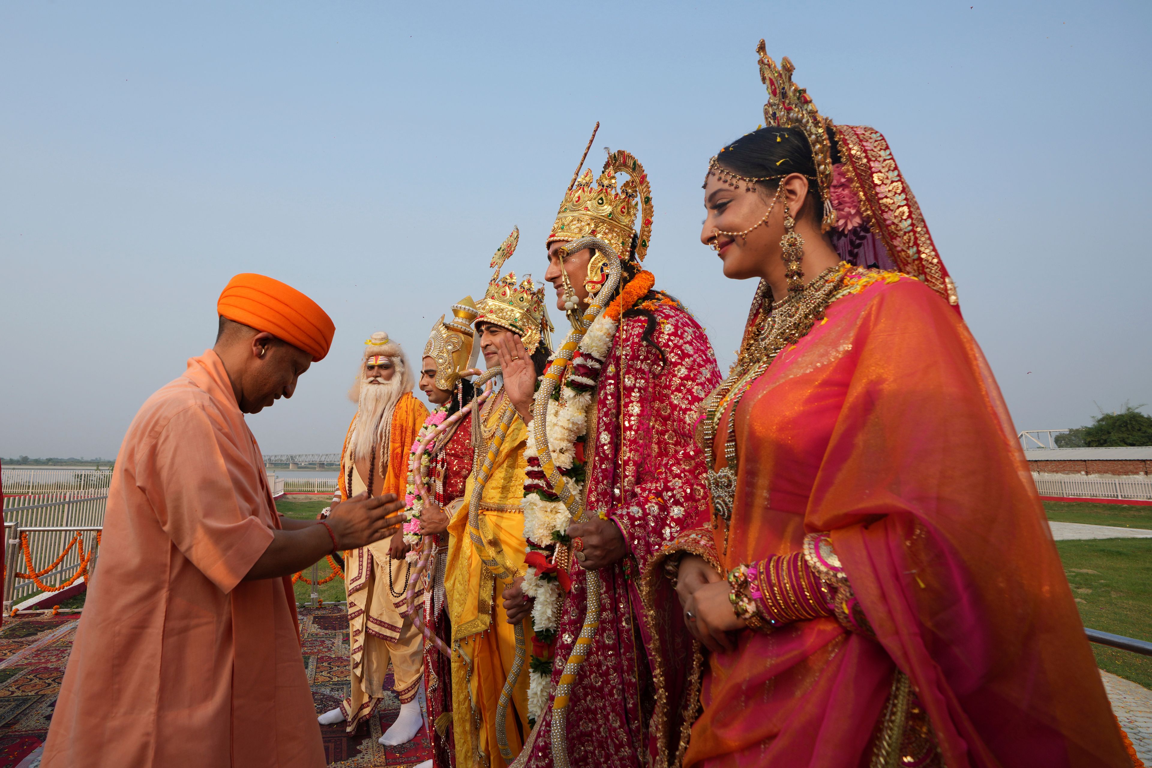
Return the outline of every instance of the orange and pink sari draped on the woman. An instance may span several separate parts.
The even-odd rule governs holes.
[[[866,766],[896,670],[949,768],[1129,765],[995,380],[940,296],[887,273],[834,302],[735,419],[732,529],[685,548],[727,572],[831,532],[872,632],[740,632],[707,659],[685,766]]]

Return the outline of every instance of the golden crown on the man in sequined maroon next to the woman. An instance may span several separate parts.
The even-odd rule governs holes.
[[[597,123],[599,127],[600,123]],[[596,136],[593,131],[592,136]],[[591,144],[591,142],[589,142]],[[588,151],[585,150],[585,155]],[[584,165],[583,158],[581,166]],[[577,167],[576,173],[579,174]],[[628,174],[616,189],[616,174]],[[607,243],[621,260],[628,260],[631,250],[636,214],[643,206],[639,233],[636,233],[636,259],[644,260],[652,236],[652,189],[639,160],[620,150],[608,152],[604,173],[592,182],[592,172],[585,170],[579,180],[574,176],[552,225],[546,244],[594,237]]]

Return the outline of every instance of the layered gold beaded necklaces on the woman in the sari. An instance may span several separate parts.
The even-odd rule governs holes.
[[[761,288],[757,291],[756,307],[767,304],[768,312],[757,319],[756,326],[751,329],[745,345],[741,349],[740,358],[733,365],[728,378],[708,395],[704,410],[704,458],[706,462],[708,492],[712,495],[712,508],[715,515],[712,519],[712,527],[715,529],[723,520],[725,525],[725,554],[728,553],[728,527],[732,523],[733,507],[736,501],[736,409],[744,394],[751,389],[776,359],[776,356],[789,344],[808,335],[817,320],[824,317],[824,311],[838,298],[838,294],[843,288],[844,279],[848,275],[850,265],[841,263],[839,266],[828,267],[821,272],[816,280],[809,283],[804,290],[795,297],[783,299],[780,304],[772,304],[771,289]],[[729,408],[730,404],[730,408]],[[728,434],[725,440],[723,453],[727,465],[723,469],[715,469],[714,444],[717,429],[720,419],[728,411]]]

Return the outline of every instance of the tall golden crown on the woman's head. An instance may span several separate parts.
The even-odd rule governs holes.
[[[756,46],[760,55],[760,82],[768,90],[768,100],[764,105],[764,124],[776,128],[798,128],[808,137],[812,149],[812,160],[816,164],[816,182],[820,187],[824,199],[824,222],[821,229],[827,231],[836,223],[836,212],[832,208],[829,192],[832,190],[832,142],[828,140],[828,128],[832,121],[820,115],[808,90],[791,82],[796,67],[788,56],[780,60],[780,67],[767,54],[764,40]]]

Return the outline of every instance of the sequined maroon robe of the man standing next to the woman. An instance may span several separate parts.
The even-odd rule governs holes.
[[[680,737],[691,636],[680,601],[650,561],[682,530],[707,525],[704,455],[695,441],[700,402],[720,382],[712,345],[683,309],[661,303],[653,341],[647,319],[624,318],[597,382],[585,442],[588,509],[605,510],[628,547],[601,568],[600,625],[573,684],[567,715],[574,767],[666,765]],[[621,418],[623,416],[623,418]],[[523,761],[552,766],[552,700],[586,613],[588,573],[570,558],[562,598],[552,694]]]

